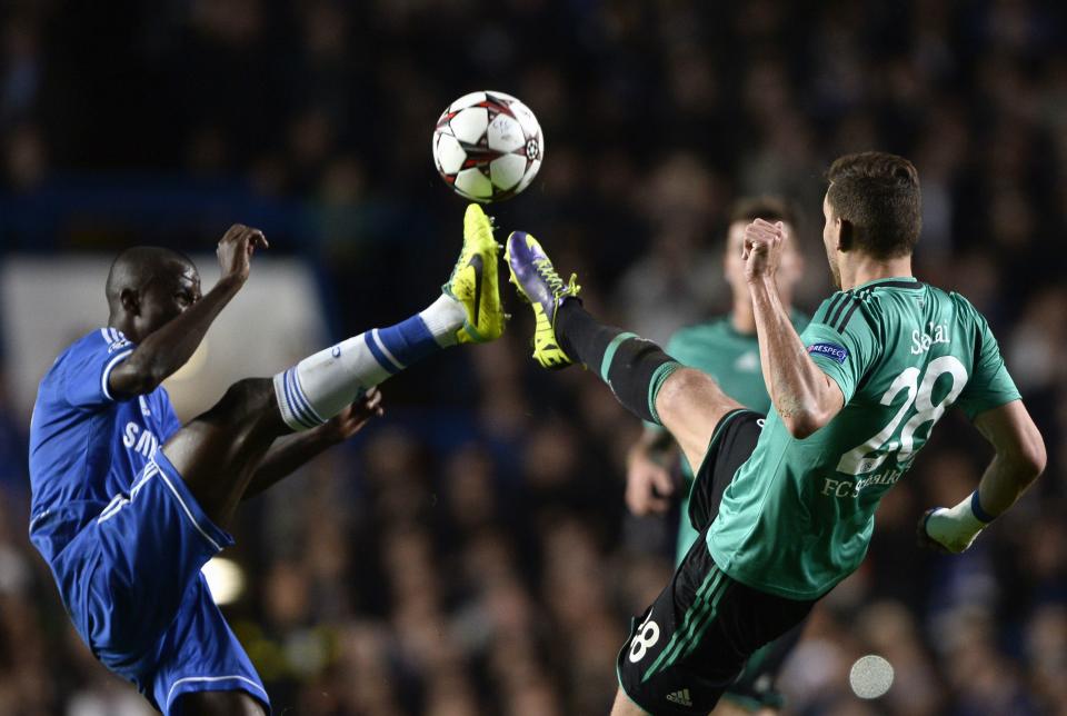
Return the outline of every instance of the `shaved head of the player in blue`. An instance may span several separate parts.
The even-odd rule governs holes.
[[[139,341],[200,299],[200,276],[180,251],[137,246],[116,257],[106,291],[108,324]]]

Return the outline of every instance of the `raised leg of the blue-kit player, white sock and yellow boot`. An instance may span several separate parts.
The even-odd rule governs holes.
[[[459,260],[426,310],[305,358],[273,379],[238,381],[174,434],[163,455],[205,513],[217,525],[229,521],[278,437],[325,424],[365,391],[443,348],[499,337],[498,248],[488,217],[471,205]]]

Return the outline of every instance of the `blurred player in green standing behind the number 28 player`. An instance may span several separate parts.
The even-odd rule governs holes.
[[[754,220],[781,221],[789,240],[782,249],[778,267],[778,296],[792,327],[802,331],[808,317],[792,309],[792,289],[804,274],[804,257],[796,241],[797,219],[791,206],[777,197],[739,199],[730,209],[729,226],[722,252],[724,278],[730,286],[731,306],[726,316],[696,326],[681,328],[667,342],[666,351],[678,362],[711,376],[722,391],[746,408],[766,414],[770,396],[759,364],[756,339],[756,315],[745,279],[745,228]],[[689,490],[692,466],[679,456],[670,432],[655,422],[646,422],[645,431],[627,458],[626,504],[635,515],[665,515],[676,493],[674,469],[681,469],[679,486],[680,518],[676,565],[681,564],[700,533],[689,521]],[[737,682],[724,694],[717,715],[759,712],[771,714],[781,706],[781,694],[775,688],[778,672],[800,638],[798,625],[779,639],[760,648],[746,664]]]

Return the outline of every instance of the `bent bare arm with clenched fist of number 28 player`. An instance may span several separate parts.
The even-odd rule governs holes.
[[[784,239],[780,225],[762,219],[750,223],[745,229],[745,274],[767,391],[789,432],[805,438],[841,410],[845,396],[808,356],[778,297],[775,271]]]

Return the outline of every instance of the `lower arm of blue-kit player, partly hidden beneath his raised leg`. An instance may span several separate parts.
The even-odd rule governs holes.
[[[383,412],[381,392],[372,388],[328,422],[276,441],[260,460],[241,499],[259,495],[311,458],[352,437],[368,420]]]

